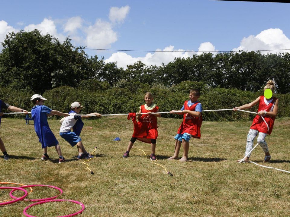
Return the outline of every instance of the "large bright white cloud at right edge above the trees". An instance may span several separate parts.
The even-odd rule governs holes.
[[[280,29],[267,29],[260,32],[258,35],[250,35],[247,38],[244,37],[240,46],[234,48],[233,51],[239,50],[279,50],[289,49],[290,39],[285,36]],[[265,51],[262,53],[277,53],[281,51]]]

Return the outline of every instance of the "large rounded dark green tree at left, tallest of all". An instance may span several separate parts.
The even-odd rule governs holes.
[[[29,87],[43,93],[53,87],[76,86],[90,78],[88,56],[74,49],[70,39],[61,43],[50,34],[33,30],[8,33],[0,53],[0,85],[16,90]]]

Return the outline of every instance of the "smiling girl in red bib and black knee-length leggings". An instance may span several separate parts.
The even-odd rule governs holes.
[[[123,158],[129,157],[129,152],[134,142],[140,140],[141,142],[151,143],[151,160],[156,160],[155,157],[155,148],[156,148],[156,139],[158,137],[157,131],[157,117],[161,117],[160,114],[151,114],[159,112],[159,107],[153,103],[153,95],[150,92],[145,94],[144,100],[145,105],[141,105],[139,112],[136,114],[138,122],[135,119],[134,113],[130,113],[132,116],[132,121],[134,123],[134,133],[131,140],[129,141],[126,152],[123,155]],[[141,113],[148,113],[147,115],[141,115]],[[129,116],[128,116],[129,118]],[[130,119],[130,118],[129,118]]]

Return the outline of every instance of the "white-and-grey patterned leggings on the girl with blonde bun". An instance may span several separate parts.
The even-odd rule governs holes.
[[[256,136],[258,135],[259,131],[257,130],[253,130],[253,129],[250,129],[249,131],[249,134],[248,134],[248,137],[247,137],[247,146],[246,146],[246,152],[245,152],[245,156],[250,152],[250,150],[253,148],[253,141],[254,139],[256,138]],[[263,151],[266,153],[266,152],[269,152],[269,149],[268,149],[268,145],[265,141],[265,137],[267,136],[266,133],[259,133],[259,136],[258,136],[258,140],[257,142],[259,143],[259,145],[262,147]],[[250,154],[251,156],[251,154]],[[249,156],[249,157],[250,157]]]

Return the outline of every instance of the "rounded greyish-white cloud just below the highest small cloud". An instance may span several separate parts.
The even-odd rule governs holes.
[[[101,19],[96,20],[95,24],[89,26],[85,32],[87,33],[86,44],[89,48],[105,49],[118,40],[111,23]]]

